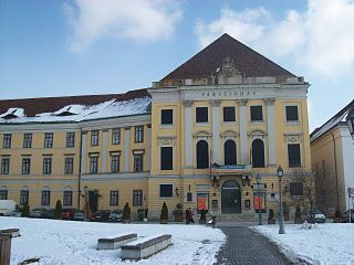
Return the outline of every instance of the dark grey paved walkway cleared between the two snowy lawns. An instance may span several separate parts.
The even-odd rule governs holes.
[[[219,226],[218,226],[219,227]],[[244,226],[219,227],[227,235],[227,244],[221,246],[216,264],[225,265],[288,265],[289,262],[264,236]]]

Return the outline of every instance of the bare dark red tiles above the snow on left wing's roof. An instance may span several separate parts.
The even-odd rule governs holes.
[[[123,102],[145,96],[149,96],[149,93],[146,88],[129,91],[125,94],[3,99],[0,100],[0,114],[6,113],[9,108],[23,108],[24,115],[28,117],[33,117],[37,114],[53,113],[62,107],[73,104],[92,106],[113,98],[115,98],[117,102]]]

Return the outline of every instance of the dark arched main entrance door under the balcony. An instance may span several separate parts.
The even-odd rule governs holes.
[[[241,189],[233,180],[226,181],[221,187],[221,213],[241,212]]]

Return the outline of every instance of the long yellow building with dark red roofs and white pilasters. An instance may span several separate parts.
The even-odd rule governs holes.
[[[10,160],[0,194],[19,201],[25,189],[33,208],[45,206],[49,190],[46,206],[53,208],[71,191],[71,206],[82,208],[87,187],[94,210],[128,202],[135,218],[138,209],[148,209],[149,219],[159,219],[166,201],[170,219],[181,203],[251,220],[258,204],[278,210],[279,165],[290,184],[294,170],[311,168],[309,86],[223,34],[147,91],[52,98],[52,104],[2,100],[0,137],[4,145],[10,135],[11,147],[0,153],[2,168]],[[46,108],[39,109],[39,103]],[[23,148],[30,132],[33,148]],[[70,148],[69,132],[75,132]],[[45,134],[53,134],[50,149],[43,147]],[[63,172],[66,157],[73,158],[70,176]],[[30,174],[21,173],[27,158]],[[52,159],[51,176],[43,174],[45,158]],[[260,200],[253,195],[257,174]]]

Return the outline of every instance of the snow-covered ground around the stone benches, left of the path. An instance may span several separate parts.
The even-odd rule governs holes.
[[[93,223],[0,218],[0,229],[20,229],[12,239],[11,265],[31,257],[40,264],[214,264],[226,236],[218,229],[186,224]],[[138,262],[121,261],[121,251],[96,251],[97,239],[125,233],[142,236],[171,234],[173,245]]]

